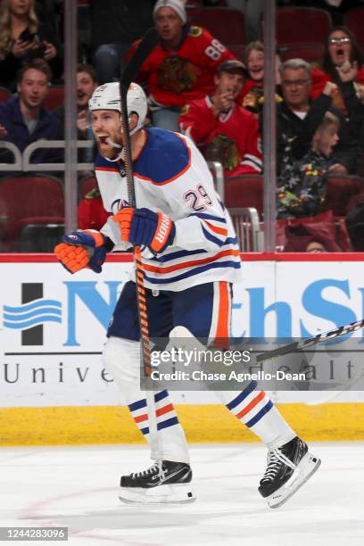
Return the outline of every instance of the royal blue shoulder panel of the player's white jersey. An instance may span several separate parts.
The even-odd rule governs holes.
[[[191,162],[183,136],[161,128],[146,129],[147,141],[135,164],[136,177],[153,184],[168,184],[181,176]]]

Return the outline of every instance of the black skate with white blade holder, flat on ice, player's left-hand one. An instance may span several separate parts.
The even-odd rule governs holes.
[[[192,470],[189,465],[159,460],[143,472],[121,476],[120,501],[151,504],[156,502],[192,502]]]

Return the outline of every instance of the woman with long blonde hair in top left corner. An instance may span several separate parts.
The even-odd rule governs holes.
[[[54,75],[62,72],[55,31],[37,18],[34,0],[2,0],[0,5],[0,84],[14,89],[23,62],[41,57]]]

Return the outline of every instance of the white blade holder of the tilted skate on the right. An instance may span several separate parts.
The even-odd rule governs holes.
[[[275,509],[285,504],[315,474],[320,464],[321,460],[318,457],[315,457],[312,453],[306,453],[289,480],[268,497],[269,508]]]

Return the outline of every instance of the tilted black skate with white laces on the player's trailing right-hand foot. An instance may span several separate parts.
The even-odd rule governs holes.
[[[278,508],[316,472],[320,459],[312,455],[298,436],[280,448],[270,450],[267,470],[258,491],[270,508]]]

